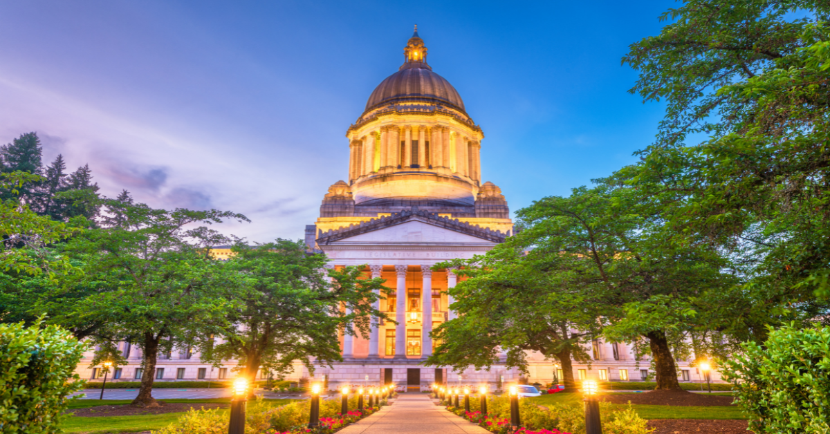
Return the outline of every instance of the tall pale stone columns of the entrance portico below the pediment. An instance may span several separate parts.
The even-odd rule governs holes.
[[[394,358],[407,358],[407,272],[409,266],[397,265],[395,267],[395,274],[397,281],[395,282],[395,321],[398,323],[395,326],[395,354]],[[429,357],[432,355],[432,338],[429,336],[432,332],[432,269],[431,265],[421,265],[421,357]],[[369,266],[371,277],[380,277],[383,266],[372,265]],[[458,278],[452,269],[447,270],[447,288],[453,288],[457,284]],[[452,305],[454,302],[452,295],[448,298],[447,305]],[[379,310],[379,301],[376,301],[374,308]],[[349,310],[346,314],[350,314]],[[456,315],[452,310],[448,312],[448,318],[453,319]],[[380,324],[377,318],[372,319],[372,328],[369,334],[369,358],[379,358],[379,339],[380,339]],[[343,335],[343,357],[354,358],[354,336],[348,333]]]

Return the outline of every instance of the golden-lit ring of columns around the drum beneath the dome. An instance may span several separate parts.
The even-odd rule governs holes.
[[[385,125],[353,139],[349,149],[349,180],[382,168],[446,168],[473,181],[481,178],[480,142],[440,125]]]

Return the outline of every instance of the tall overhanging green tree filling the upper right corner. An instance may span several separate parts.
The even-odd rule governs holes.
[[[623,62],[632,92],[665,100],[657,141],[623,178],[665,196],[677,242],[747,266],[747,339],[826,320],[830,295],[830,4],[693,0]],[[752,324],[750,324],[752,323]]]

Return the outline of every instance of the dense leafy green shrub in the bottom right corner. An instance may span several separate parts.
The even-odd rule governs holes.
[[[830,328],[772,330],[762,348],[743,344],[725,362],[735,402],[757,432],[828,432]]]

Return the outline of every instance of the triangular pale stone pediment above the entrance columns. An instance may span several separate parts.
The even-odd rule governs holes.
[[[343,238],[334,241],[339,243],[401,243],[401,242],[424,242],[424,243],[452,243],[465,244],[487,242],[479,237],[472,237],[466,233],[452,231],[445,227],[433,226],[426,222],[409,221],[392,227],[383,227],[371,232],[364,232],[354,237]]]

